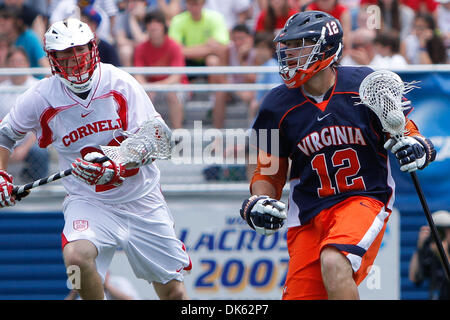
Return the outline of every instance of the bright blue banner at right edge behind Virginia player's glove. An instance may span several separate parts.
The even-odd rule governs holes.
[[[425,170],[417,171],[431,211],[450,208],[450,72],[399,72],[403,81],[419,81],[406,95],[412,102],[409,118],[433,142],[437,157]],[[396,183],[395,207],[400,211],[420,211],[421,205],[411,177],[399,169],[391,156]]]

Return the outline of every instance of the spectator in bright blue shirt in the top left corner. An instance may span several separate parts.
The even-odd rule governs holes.
[[[25,49],[32,68],[49,67],[42,43],[36,33],[25,26],[20,9],[0,7],[0,34],[6,36],[10,45]]]

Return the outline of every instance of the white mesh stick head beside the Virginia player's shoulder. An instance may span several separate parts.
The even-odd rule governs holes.
[[[369,74],[361,82],[359,97],[381,121],[383,129],[393,136],[405,133],[406,119],[402,98],[408,91],[398,74],[379,70]]]

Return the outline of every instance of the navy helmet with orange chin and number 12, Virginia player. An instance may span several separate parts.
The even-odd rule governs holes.
[[[280,75],[298,88],[342,55],[342,27],[320,11],[294,14],[275,37]]]

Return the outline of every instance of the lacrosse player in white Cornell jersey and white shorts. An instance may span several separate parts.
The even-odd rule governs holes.
[[[161,299],[187,299],[183,270],[191,261],[175,235],[156,165],[94,163],[102,156],[100,145],[124,139],[120,130],[133,132],[154,117],[164,121],[131,75],[99,61],[85,23],[73,18],[54,23],[44,47],[53,76],[21,95],[0,125],[0,206],[16,202],[8,158],[15,141],[33,131],[40,147],[52,144],[57,150],[61,170],[73,168],[62,180],[67,191],[62,244],[68,273],[70,266],[79,267],[80,296],[104,298],[102,283],[121,247],[135,275],[153,283]]]

